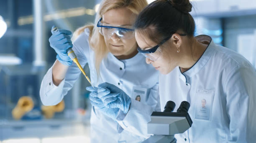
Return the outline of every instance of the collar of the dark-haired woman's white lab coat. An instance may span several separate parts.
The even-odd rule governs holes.
[[[205,52],[202,54],[202,56],[198,59],[198,61],[186,72],[183,72],[182,74],[188,77],[192,77],[194,76],[197,72],[200,71],[200,69],[202,69],[202,67],[205,66],[205,64],[208,62],[208,60],[210,59],[212,52],[214,50],[214,42],[212,41],[212,38],[210,36],[207,35],[199,35],[196,37],[196,39],[199,42],[205,43],[208,42],[210,44],[208,44],[207,48],[205,49]]]

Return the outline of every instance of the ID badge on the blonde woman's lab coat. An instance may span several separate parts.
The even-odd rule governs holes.
[[[132,98],[145,103],[148,95],[148,89],[142,86],[133,86]]]

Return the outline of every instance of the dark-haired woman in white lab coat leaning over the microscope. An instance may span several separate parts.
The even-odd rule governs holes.
[[[189,0],[156,0],[135,22],[138,51],[161,72],[161,110],[169,100],[190,103],[193,124],[175,136],[179,143],[255,142],[255,69],[210,36],[195,37],[191,9]],[[200,111],[201,99],[210,113]]]

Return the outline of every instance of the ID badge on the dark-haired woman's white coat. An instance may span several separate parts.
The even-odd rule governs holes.
[[[214,90],[197,90],[195,119],[211,121]]]

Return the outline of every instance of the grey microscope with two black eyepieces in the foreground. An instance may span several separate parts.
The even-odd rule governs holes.
[[[153,112],[151,121],[148,122],[148,134],[154,134],[143,143],[176,143],[174,135],[184,133],[192,125],[192,120],[187,113],[190,104],[182,101],[177,112],[172,112],[175,108],[173,101],[168,101],[164,107],[164,112]]]

